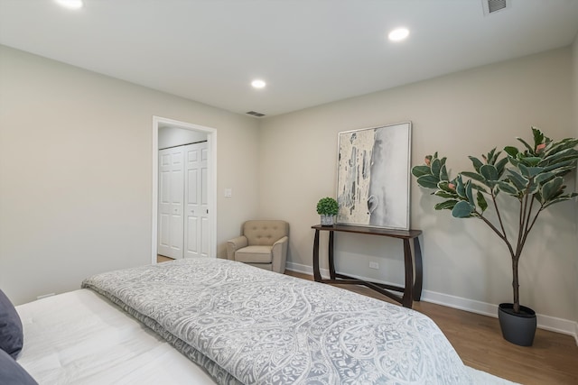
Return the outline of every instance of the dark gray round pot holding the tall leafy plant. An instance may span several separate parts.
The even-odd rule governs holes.
[[[514,304],[499,304],[499,327],[504,339],[519,346],[532,346],[536,335],[536,312],[520,305],[520,313],[514,313]]]

